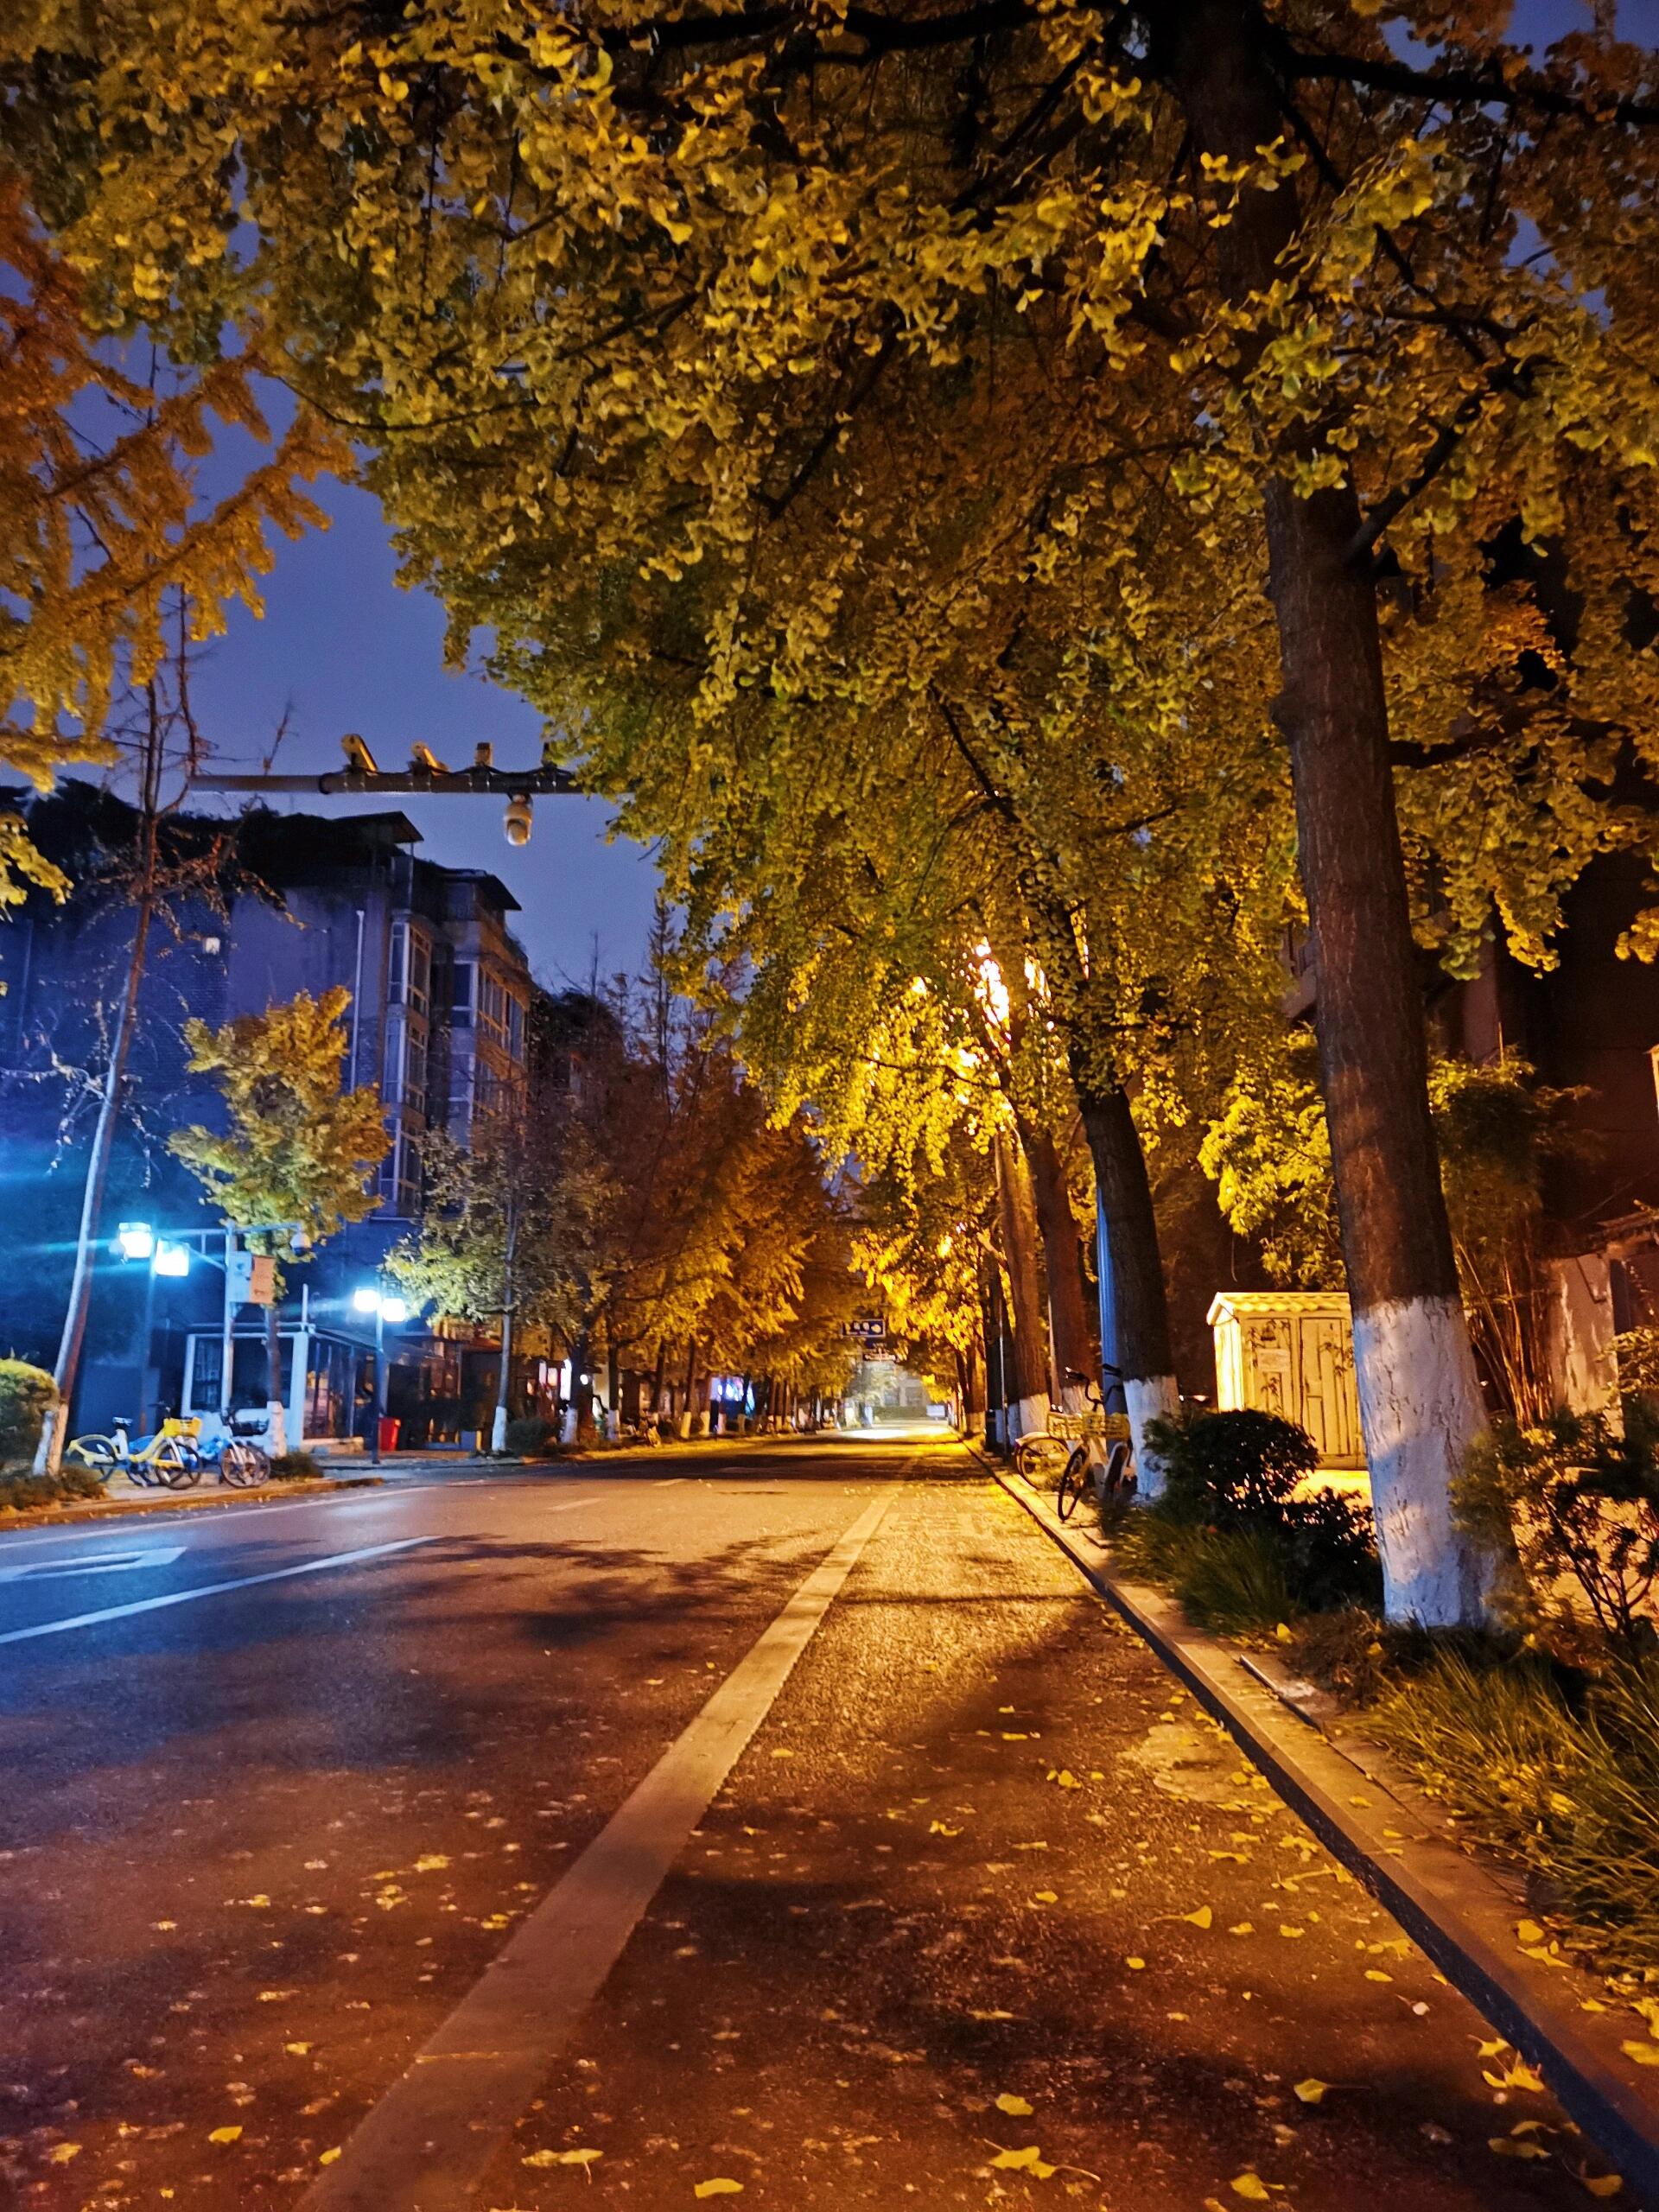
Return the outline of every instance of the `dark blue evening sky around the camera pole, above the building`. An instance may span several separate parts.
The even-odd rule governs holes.
[[[223,471],[252,449],[226,440]],[[219,469],[208,471],[210,478]],[[204,734],[219,768],[259,768],[290,717],[276,759],[285,772],[341,768],[341,734],[361,730],[380,768],[403,768],[409,745],[431,745],[465,765],[491,739],[498,765],[535,763],[535,714],[478,675],[442,666],[442,611],[422,591],[400,591],[378,504],[352,484],[325,484],[327,531],[276,542],[265,617],[232,608],[228,637],[206,648],[195,677]],[[234,805],[208,801],[199,805]],[[307,812],[363,812],[363,801],[274,799]],[[599,938],[599,971],[635,969],[644,953],[657,872],[630,843],[606,843],[611,810],[595,799],[538,799],[531,843],[502,836],[495,799],[396,799],[420,827],[422,852],[451,867],[489,867],[524,907],[518,933],[535,973],[584,982]]]

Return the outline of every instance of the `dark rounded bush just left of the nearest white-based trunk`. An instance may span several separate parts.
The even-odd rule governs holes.
[[[1164,1462],[1155,1504],[1108,1522],[1128,1573],[1175,1590],[1201,1628],[1248,1632],[1380,1599],[1371,1515],[1307,1491],[1318,1451],[1276,1413],[1183,1413],[1148,1442]]]

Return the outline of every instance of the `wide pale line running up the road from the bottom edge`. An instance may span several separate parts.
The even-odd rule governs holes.
[[[299,2212],[476,2212],[478,2183],[894,1502],[887,1484],[473,1982]]]

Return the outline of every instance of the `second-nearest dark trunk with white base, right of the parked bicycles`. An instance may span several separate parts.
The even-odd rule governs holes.
[[[1079,1077],[1077,1110],[1095,1161],[1102,1383],[1108,1409],[1128,1413],[1137,1495],[1152,1500],[1164,1491],[1164,1464],[1146,1427],[1181,1405],[1152,1186],[1128,1093],[1097,1091]]]

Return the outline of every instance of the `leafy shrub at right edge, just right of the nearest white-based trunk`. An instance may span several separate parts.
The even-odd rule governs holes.
[[[1626,1402],[1624,1436],[1599,1413],[1557,1411],[1528,1429],[1495,1420],[1464,1462],[1455,1504],[1500,1559],[1498,1606],[1513,1628],[1571,1657],[1588,1613],[1610,1648],[1652,1650],[1659,1422],[1641,1400]]]

